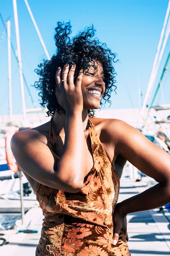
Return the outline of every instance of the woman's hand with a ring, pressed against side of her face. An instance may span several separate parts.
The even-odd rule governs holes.
[[[63,70],[61,67],[56,72],[56,90],[55,95],[59,105],[68,112],[83,111],[83,94],[81,91],[81,81],[83,72],[80,71],[74,84],[74,72],[76,65],[65,64]]]

